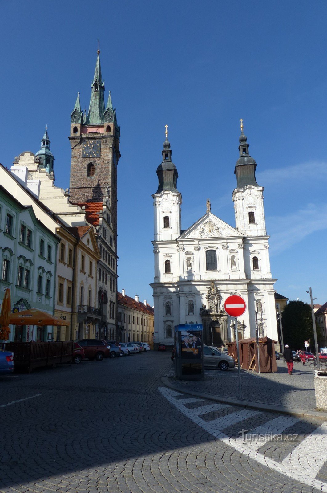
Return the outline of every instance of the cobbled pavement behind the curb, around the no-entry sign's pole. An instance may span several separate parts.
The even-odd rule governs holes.
[[[314,366],[294,364],[293,375],[287,372],[283,359],[277,361],[278,373],[261,373],[242,370],[242,393],[248,400],[265,404],[280,404],[303,411],[316,408]],[[173,369],[173,368],[172,368]],[[207,394],[238,398],[237,367],[228,371],[206,370],[204,382],[176,381],[171,371],[171,382],[180,384],[181,390],[203,391]]]

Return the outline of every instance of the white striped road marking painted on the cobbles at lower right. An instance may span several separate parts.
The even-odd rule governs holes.
[[[174,397],[176,392],[174,392],[173,390],[170,390],[169,388],[166,387],[159,387],[159,391],[181,413],[186,415],[188,418],[190,418],[190,420],[201,426],[201,428],[205,429],[208,433],[210,433],[214,437],[222,440],[227,445],[233,447],[241,455],[245,455],[245,457],[247,457],[248,459],[251,458],[256,462],[258,462],[259,464],[265,465],[280,474],[284,474],[285,476],[294,479],[294,481],[298,481],[312,488],[317,488],[317,490],[320,490],[322,493],[327,493],[327,483],[316,479],[316,475],[319,469],[323,465],[322,457],[321,457],[323,454],[325,454],[325,460],[326,460],[327,423],[324,423],[322,426],[319,426],[313,433],[311,433],[304,440],[304,442],[306,443],[305,455],[309,456],[305,463],[303,458],[303,449],[301,451],[300,448],[302,444],[296,447],[292,452],[292,454],[294,454],[294,460],[292,459],[293,462],[291,462],[292,454],[288,456],[289,458],[288,461],[284,459],[283,462],[278,462],[277,460],[264,457],[263,454],[258,452],[260,447],[256,447],[256,446],[251,447],[251,445],[247,444],[246,442],[243,443],[243,441],[240,441],[239,437],[231,438],[221,431],[222,429],[227,428],[230,424],[240,423],[242,421],[239,419],[241,417],[240,413],[243,414],[243,418],[242,418],[243,420],[245,420],[248,416],[251,416],[251,413],[254,414],[259,414],[259,413],[255,413],[253,411],[244,409],[243,412],[236,411],[235,413],[230,413],[224,418],[218,418],[217,420],[206,422],[199,417],[199,415],[197,414],[197,409],[187,409],[183,405],[183,400],[175,399]],[[227,405],[226,407],[230,407],[230,406]],[[236,414],[237,416],[233,417],[233,414]],[[252,414],[252,416],[254,414]],[[265,429],[266,428],[271,429],[273,427],[273,424],[271,424],[270,426],[269,423],[272,423],[273,421],[275,420],[271,420],[270,422],[265,423],[264,425]],[[285,422],[286,428],[290,426],[288,423],[290,422],[289,421],[287,423]],[[262,427],[260,426],[257,429],[261,429],[261,428]],[[276,422],[276,429],[282,431],[282,428],[283,428],[282,421]],[[321,452],[319,451],[319,454],[317,451],[318,446],[320,447],[321,450]],[[301,462],[299,462],[299,453],[301,453],[302,456]],[[315,460],[315,458],[317,458],[317,460]]]

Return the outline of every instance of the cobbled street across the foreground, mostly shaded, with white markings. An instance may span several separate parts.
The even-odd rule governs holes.
[[[327,492],[326,423],[190,398],[170,370],[149,352],[0,378],[0,492]]]

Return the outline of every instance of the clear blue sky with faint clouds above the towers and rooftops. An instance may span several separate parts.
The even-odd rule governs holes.
[[[88,108],[100,39],[105,98],[121,126],[119,283],[152,304],[153,205],[164,125],[182,228],[211,211],[235,224],[239,119],[265,187],[275,288],[327,300],[327,3],[0,3],[0,162],[36,152],[48,125],[56,185],[69,186],[70,113]]]

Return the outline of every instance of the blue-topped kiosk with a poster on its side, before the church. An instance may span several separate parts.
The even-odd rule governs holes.
[[[203,326],[184,323],[174,327],[175,375],[179,379],[203,380]]]

